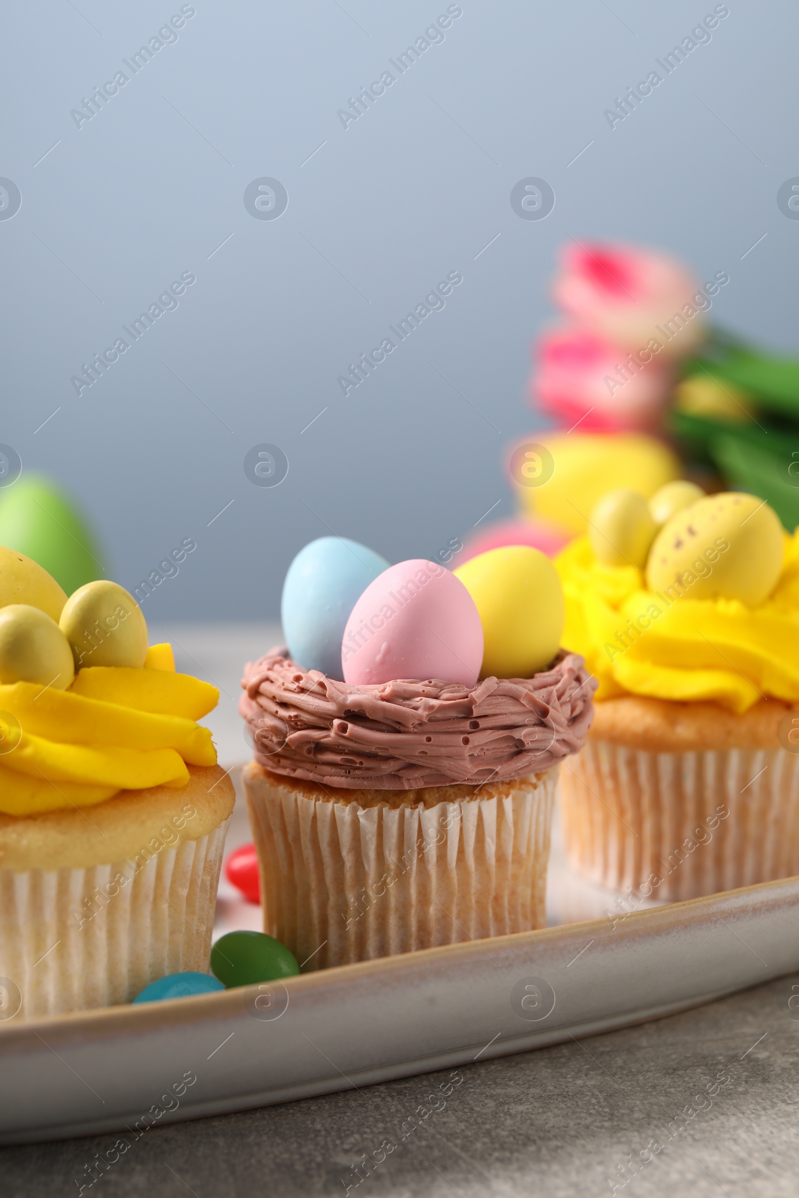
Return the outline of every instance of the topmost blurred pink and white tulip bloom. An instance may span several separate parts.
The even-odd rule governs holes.
[[[667,254],[574,242],[561,250],[552,298],[575,325],[599,337],[636,351],[656,340],[664,355],[678,357],[706,335],[702,314],[712,307],[691,273]]]

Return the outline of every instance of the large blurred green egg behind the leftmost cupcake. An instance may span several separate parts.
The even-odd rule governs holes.
[[[0,545],[38,562],[69,595],[102,576],[95,534],[72,500],[44,474],[23,473],[0,490]]]

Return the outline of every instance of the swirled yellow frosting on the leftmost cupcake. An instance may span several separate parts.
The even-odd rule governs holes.
[[[93,806],[117,791],[184,786],[190,766],[214,766],[196,720],[216,686],[174,671],[158,647],[146,667],[80,670],[67,690],[0,685],[0,811],[29,816]],[[171,668],[170,668],[171,665]]]

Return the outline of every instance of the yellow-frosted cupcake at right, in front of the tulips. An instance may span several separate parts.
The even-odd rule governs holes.
[[[573,866],[668,901],[799,873],[799,537],[674,483],[610,492],[556,565],[599,680],[561,774]]]

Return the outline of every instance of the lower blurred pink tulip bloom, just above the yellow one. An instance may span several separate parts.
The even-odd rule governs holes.
[[[580,328],[543,333],[531,380],[537,406],[589,431],[656,431],[673,383],[662,355],[635,353]]]

